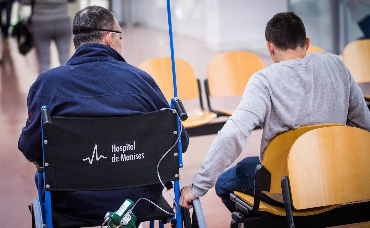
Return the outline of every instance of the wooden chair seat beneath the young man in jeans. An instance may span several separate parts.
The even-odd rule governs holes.
[[[245,201],[249,205],[253,206],[254,197],[252,195],[247,195],[239,191],[234,191],[234,194],[240,197],[243,201]],[[326,206],[326,207],[316,207],[316,208],[309,208],[305,210],[292,210],[292,211],[293,211],[293,216],[307,216],[307,215],[315,215],[315,214],[320,214],[326,211],[330,211],[338,206],[339,204]],[[274,215],[286,216],[284,207],[277,207],[277,206],[265,203],[263,201],[260,201],[258,210],[270,212]]]

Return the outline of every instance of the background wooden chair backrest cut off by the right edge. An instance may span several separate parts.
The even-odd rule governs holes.
[[[370,82],[370,39],[347,44],[343,50],[343,62],[357,83]]]

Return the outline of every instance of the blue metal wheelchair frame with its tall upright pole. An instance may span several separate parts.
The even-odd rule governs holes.
[[[167,1],[167,15],[168,15],[168,29],[169,29],[169,41],[170,41],[170,49],[171,49],[171,63],[172,63],[172,79],[174,82],[174,98],[171,100],[171,108],[175,108],[174,101],[176,101],[177,98],[177,85],[176,85],[176,70],[175,70],[175,57],[174,57],[174,41],[173,41],[173,34],[172,34],[172,21],[171,21],[171,6],[170,6],[170,0]],[[41,110],[47,108],[47,106],[42,106]],[[178,128],[178,134],[180,134],[180,119],[179,116],[177,117],[177,128]],[[42,112],[41,112],[41,135],[44,139],[44,133],[42,128]],[[42,145],[44,143],[42,142]],[[179,138],[178,142],[178,150],[179,150],[179,168],[182,169],[182,147],[181,147],[181,137]],[[44,147],[43,147],[43,157],[44,157]],[[44,163],[44,161],[43,161]],[[44,163],[45,164],[45,163]],[[51,215],[51,196],[50,191],[47,191],[45,189],[45,201],[43,199],[42,191],[43,187],[45,186],[44,183],[45,180],[45,169],[43,173],[38,173],[38,200],[40,201],[41,205],[41,214],[43,218],[43,224],[47,224],[47,228],[53,228],[53,221],[52,221],[52,215]],[[180,199],[180,182],[179,180],[174,181],[174,191],[175,191],[175,201],[178,205],[178,210],[176,212],[176,217],[172,217],[169,220],[176,220],[176,227],[182,228],[182,218],[181,218],[181,210],[179,205],[179,199]],[[159,222],[159,228],[163,228],[164,225],[161,221]],[[154,221],[150,221],[150,228],[154,228]]]

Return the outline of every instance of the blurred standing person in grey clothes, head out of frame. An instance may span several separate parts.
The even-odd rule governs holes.
[[[70,57],[72,24],[68,16],[68,2],[75,0],[20,0],[23,4],[33,3],[33,42],[38,55],[39,72],[50,68],[50,42],[55,41],[60,64]]]

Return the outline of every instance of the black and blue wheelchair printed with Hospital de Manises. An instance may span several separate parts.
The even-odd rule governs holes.
[[[176,108],[182,120],[186,119],[185,109],[178,98],[172,99],[171,107]],[[178,204],[182,150],[180,122],[176,110],[163,109],[133,116],[70,118],[50,116],[47,106],[42,106],[43,161],[35,162],[38,172],[38,199],[33,199],[29,205],[32,227],[94,226],[54,210],[51,192],[123,189],[160,183],[157,164],[163,159],[158,175],[166,183],[167,189],[174,186],[178,205],[176,215],[165,213],[156,207],[139,222],[150,221],[151,228],[154,228],[156,220],[160,228],[168,222],[171,227],[182,228],[184,225],[185,228],[206,228],[199,199],[193,201],[193,221],[189,211],[180,208]],[[131,142],[134,143],[127,144]],[[120,150],[118,153],[112,149],[113,145]],[[171,145],[174,146],[165,154]],[[78,153],[70,153],[71,151]],[[107,175],[113,173],[115,175]],[[157,205],[167,212],[173,212],[173,208],[163,197]]]

